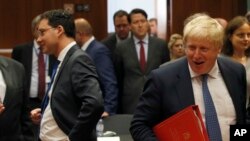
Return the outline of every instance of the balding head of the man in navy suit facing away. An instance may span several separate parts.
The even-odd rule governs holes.
[[[78,18],[75,20],[76,32],[84,33],[86,35],[92,36],[92,27],[87,20],[84,18]]]

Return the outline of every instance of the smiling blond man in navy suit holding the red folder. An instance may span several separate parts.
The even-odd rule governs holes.
[[[204,75],[218,119],[218,140],[229,140],[230,125],[245,123],[246,71],[243,65],[218,57],[223,27],[203,15],[187,23],[183,33],[187,57],[152,71],[145,84],[130,127],[136,141],[156,141],[155,125],[194,104],[206,121],[209,138],[215,137],[208,130]]]

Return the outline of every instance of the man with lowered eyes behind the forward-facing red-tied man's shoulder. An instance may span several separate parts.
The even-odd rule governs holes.
[[[115,33],[102,40],[102,43],[110,49],[112,57],[117,43],[131,37],[128,16],[124,10],[116,11],[113,16]]]

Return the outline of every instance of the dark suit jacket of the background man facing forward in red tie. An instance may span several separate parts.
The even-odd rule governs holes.
[[[121,95],[121,110],[133,114],[142,94],[146,76],[151,70],[170,60],[165,41],[149,37],[148,59],[145,72],[140,69],[134,39],[131,37],[117,45],[115,50],[115,70]]]

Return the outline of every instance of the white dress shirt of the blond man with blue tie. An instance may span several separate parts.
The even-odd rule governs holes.
[[[195,104],[199,106],[203,122],[206,123],[201,76],[198,76],[195,72],[193,72],[190,66],[189,71],[192,78]],[[217,112],[222,140],[229,141],[230,125],[236,124],[236,111],[234,104],[229,95],[217,62],[208,75],[208,88]]]

